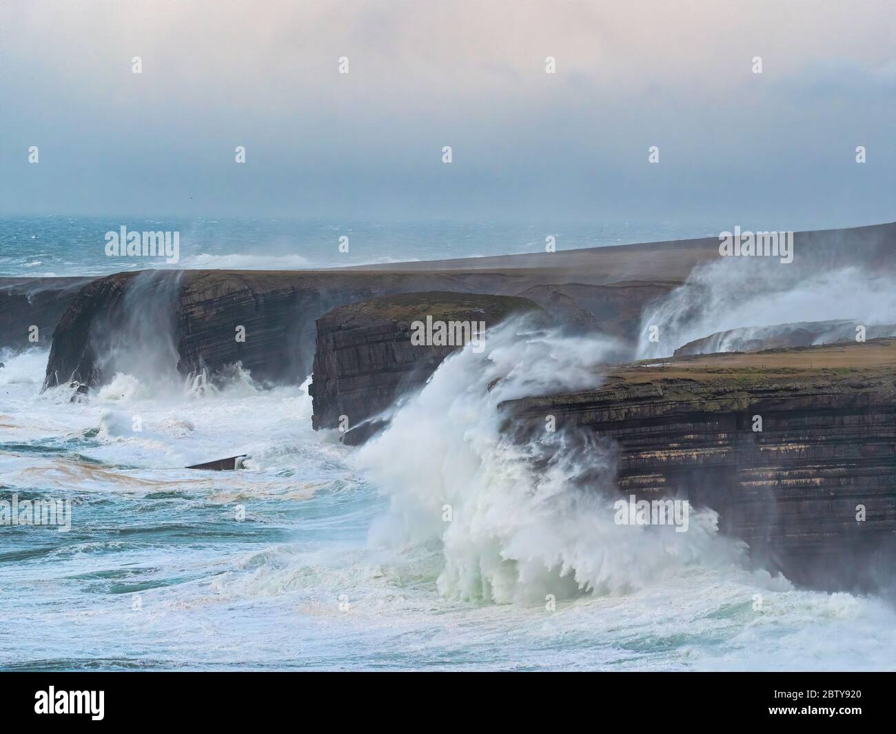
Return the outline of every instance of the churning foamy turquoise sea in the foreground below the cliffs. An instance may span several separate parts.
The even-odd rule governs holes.
[[[614,558],[623,546],[590,527],[559,537],[550,518],[508,510],[510,540],[536,523],[539,553],[572,543],[583,573],[602,554],[613,570],[594,594],[533,582],[502,603],[477,598],[444,574],[468,558],[485,573],[478,520],[445,541],[414,538],[392,523],[418,505],[380,483],[391,462],[418,475],[410,493],[431,491],[466,462],[456,446],[454,467],[426,441],[416,462],[388,444],[358,462],[310,429],[301,388],[247,379],[163,395],[120,377],[71,403],[67,388],[39,393],[45,359],[4,355],[0,499],[71,499],[72,529],[0,528],[0,668],[892,668],[896,616],[883,601],[797,591],[746,571],[736,552],[719,563],[730,548],[711,532],[690,555],[653,564],[632,548]],[[181,468],[234,453],[253,456],[245,471]],[[452,491],[467,487],[478,493],[470,507],[494,501],[460,480]],[[508,539],[498,528],[492,540]]]

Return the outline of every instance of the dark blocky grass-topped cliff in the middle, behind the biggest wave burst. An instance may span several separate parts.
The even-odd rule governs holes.
[[[389,408],[402,392],[424,384],[444,358],[463,346],[453,332],[448,340],[415,343],[414,322],[426,324],[428,318],[431,324],[481,324],[485,332],[473,338],[484,340],[508,315],[535,310],[538,307],[526,298],[444,291],[373,298],[333,309],[317,321],[314,378],[308,391],[314,402],[314,429],[340,427],[345,416],[349,425],[343,428],[353,430],[344,442],[361,443],[377,425],[355,428],[359,423]],[[468,341],[471,336],[470,330]]]

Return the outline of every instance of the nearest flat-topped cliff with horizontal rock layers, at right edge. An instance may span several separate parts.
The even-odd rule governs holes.
[[[896,574],[894,370],[885,340],[713,355],[505,410],[521,436],[554,415],[558,430],[615,445],[624,497],[711,507],[754,562],[795,583],[873,589]]]

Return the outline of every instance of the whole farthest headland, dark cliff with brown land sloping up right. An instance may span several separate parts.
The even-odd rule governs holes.
[[[855,263],[860,255],[867,266],[883,266],[892,260],[894,232],[888,224],[794,238],[815,259]],[[256,379],[294,382],[311,370],[314,321],[327,311],[426,290],[522,296],[561,323],[630,341],[650,300],[718,256],[718,240],[706,238],[316,272],[117,273],[91,281],[77,297],[66,295],[47,385],[70,376],[96,384],[146,362],[152,369],[214,373],[239,361]],[[43,279],[37,280],[28,288],[39,289]],[[65,304],[58,302],[60,310]],[[50,309],[41,323],[48,329],[57,314]],[[21,332],[20,318],[12,321]],[[237,339],[237,327],[245,340]]]

